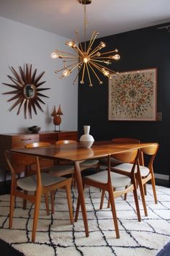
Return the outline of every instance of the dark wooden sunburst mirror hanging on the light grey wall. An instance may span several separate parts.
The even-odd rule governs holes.
[[[8,100],[15,101],[9,111],[12,111],[13,108],[18,106],[17,115],[19,115],[22,106],[24,107],[24,119],[27,119],[27,113],[29,118],[32,119],[32,110],[37,114],[36,108],[39,108],[43,112],[40,104],[45,104],[42,101],[41,97],[49,98],[48,96],[42,94],[43,90],[49,90],[50,88],[40,88],[46,81],[40,82],[42,75],[45,71],[37,74],[37,69],[32,72],[32,64],[24,65],[24,68],[19,67],[19,72],[17,72],[14,67],[10,68],[14,77],[8,75],[9,79],[12,81],[12,84],[3,82],[3,85],[7,85],[14,90],[3,93],[3,94],[12,94],[12,98]]]

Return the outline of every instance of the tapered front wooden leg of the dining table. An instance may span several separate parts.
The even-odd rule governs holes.
[[[81,213],[84,219],[84,228],[85,228],[85,232],[86,232],[86,237],[89,236],[89,226],[88,226],[88,222],[87,222],[87,217],[86,217],[86,204],[85,204],[85,200],[84,200],[84,189],[83,189],[83,183],[82,183],[82,179],[81,179],[81,170],[80,170],[80,165],[79,165],[79,161],[76,161],[74,163],[74,168],[75,168],[75,178],[76,178],[76,185],[77,185],[77,189],[79,192],[79,197],[80,197],[80,205],[81,205]]]

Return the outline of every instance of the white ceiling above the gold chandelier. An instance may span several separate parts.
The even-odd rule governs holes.
[[[170,22],[170,0],[92,0],[88,28],[99,37]],[[84,40],[84,9],[78,0],[0,0],[0,16],[74,39]]]

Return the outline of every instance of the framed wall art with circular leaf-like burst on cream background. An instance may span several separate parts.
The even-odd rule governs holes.
[[[112,74],[109,120],[156,121],[157,69]]]

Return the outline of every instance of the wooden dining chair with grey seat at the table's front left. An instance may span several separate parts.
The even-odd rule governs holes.
[[[21,197],[24,200],[28,200],[34,203],[35,210],[32,226],[32,242],[35,242],[35,233],[37,229],[37,220],[39,216],[40,200],[42,194],[48,194],[48,192],[52,192],[51,195],[53,195],[53,191],[61,187],[66,188],[70,221],[71,223],[73,223],[73,210],[71,203],[71,178],[66,179],[64,177],[54,177],[45,172],[41,173],[40,162],[37,156],[23,155],[19,153],[14,153],[10,150],[6,150],[5,157],[12,174],[9,228],[12,228],[15,197]],[[33,174],[31,176],[25,176],[21,179],[16,178],[17,166],[23,166],[23,168],[27,167],[29,169],[32,164],[36,165],[36,174]],[[24,193],[25,191],[27,193]],[[54,213],[53,200],[54,197],[51,196],[52,213]]]

